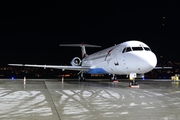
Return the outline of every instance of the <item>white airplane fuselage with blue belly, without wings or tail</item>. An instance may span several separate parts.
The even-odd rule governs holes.
[[[144,74],[157,64],[155,54],[149,46],[140,41],[127,41],[94,54],[82,60],[82,66],[91,66],[89,74]]]

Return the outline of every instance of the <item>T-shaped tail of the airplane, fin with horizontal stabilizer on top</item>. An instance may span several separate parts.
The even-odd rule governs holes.
[[[84,42],[82,42],[82,44],[60,44],[59,46],[81,47],[82,58],[85,58],[87,56],[85,47],[101,47],[101,46],[98,46],[98,45],[84,44]]]

